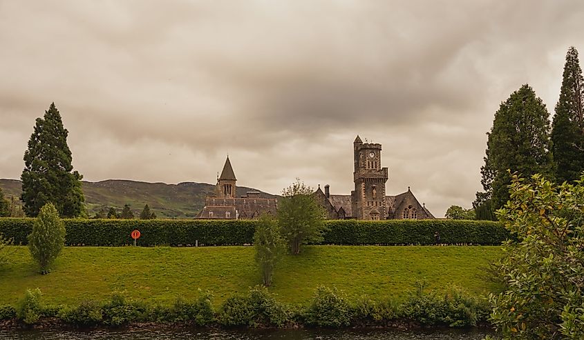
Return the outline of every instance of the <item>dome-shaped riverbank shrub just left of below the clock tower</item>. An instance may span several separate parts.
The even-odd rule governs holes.
[[[343,292],[337,288],[320,286],[305,310],[304,320],[308,325],[319,327],[349,326],[352,308]]]

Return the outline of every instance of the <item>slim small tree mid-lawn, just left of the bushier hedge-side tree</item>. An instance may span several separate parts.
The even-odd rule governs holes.
[[[260,267],[263,285],[270,287],[274,267],[281,259],[285,251],[285,243],[278,222],[268,214],[260,217],[256,232],[254,233],[254,248],[256,250],[256,263]]]

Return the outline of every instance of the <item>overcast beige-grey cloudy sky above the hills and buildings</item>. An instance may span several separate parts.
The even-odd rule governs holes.
[[[238,185],[350,194],[359,134],[442,217],[501,101],[529,83],[553,114],[583,32],[579,0],[0,0],[0,178],[55,101],[88,181],[214,183],[229,153]]]

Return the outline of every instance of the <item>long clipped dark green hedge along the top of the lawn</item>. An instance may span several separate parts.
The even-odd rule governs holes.
[[[0,219],[0,234],[15,244],[26,244],[35,219]],[[232,246],[252,243],[257,221],[64,219],[70,246],[125,246],[140,230],[140,246]],[[441,243],[496,245],[509,237],[497,222],[456,220],[326,221],[323,244],[404,245]]]

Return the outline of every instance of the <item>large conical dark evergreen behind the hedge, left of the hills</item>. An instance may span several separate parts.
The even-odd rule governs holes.
[[[73,171],[67,135],[59,110],[50,104],[44,117],[37,118],[24,152],[21,200],[28,216],[37,216],[46,203],[53,203],[62,217],[85,213],[82,175]]]

